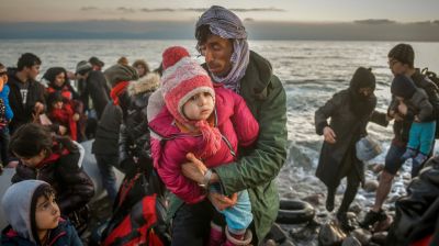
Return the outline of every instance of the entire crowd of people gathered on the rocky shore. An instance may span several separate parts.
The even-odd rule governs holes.
[[[271,64],[250,51],[246,29],[232,11],[217,5],[206,10],[195,24],[195,38],[203,65],[185,48],[172,46],[162,52],[155,71],[142,59],[131,66],[126,57],[103,70],[104,63],[91,57],[79,62],[75,72],[48,68],[44,85],[36,81],[42,60],[34,54],[23,54],[16,68],[0,64],[1,163],[15,168],[13,185],[2,199],[10,223],[2,245],[82,244],[77,232],[87,216],[78,217],[88,213],[94,187],[81,168],[85,152],[78,143],[88,139],[94,139],[92,153],[114,216],[124,217],[142,200],[125,202],[131,198],[126,189],[146,175],[167,190],[153,193],[168,200],[166,231],[171,245],[264,242],[279,210],[274,179],[286,158],[284,88]],[[364,67],[353,72],[349,88],[315,112],[316,133],[324,136],[316,176],[328,188],[329,212],[340,180],[347,178],[336,213],[346,232],[354,228],[347,212],[364,182],[364,161],[356,144],[367,136],[369,122],[385,127],[394,120],[394,138],[375,204],[361,227],[372,230],[387,217],[382,205],[406,159],[413,159],[412,176],[418,177],[414,182],[430,180],[435,187],[431,176],[439,169],[432,156],[439,89],[415,68],[410,45],[398,44],[387,56],[395,76],[387,112],[375,111],[376,81]],[[125,174],[120,189],[113,168]],[[412,188],[410,198],[423,197],[416,186]],[[393,242],[439,241],[438,200],[435,203],[430,194],[427,201],[417,204],[412,227],[423,223],[424,231],[415,230],[414,235],[414,230],[398,224],[407,223],[401,219],[404,213],[397,214],[390,233]],[[396,206],[407,211],[414,203]],[[436,217],[423,217],[425,211]],[[112,226],[117,220],[111,219]],[[103,235],[112,235],[112,228]]]

